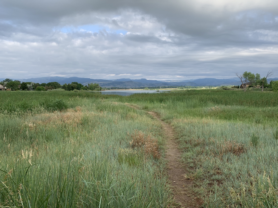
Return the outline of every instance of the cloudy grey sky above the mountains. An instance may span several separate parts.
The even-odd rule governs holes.
[[[0,77],[278,77],[277,0],[1,0]]]

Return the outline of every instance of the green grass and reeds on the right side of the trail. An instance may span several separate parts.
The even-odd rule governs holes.
[[[277,93],[192,90],[126,100],[172,124],[203,207],[278,206]]]

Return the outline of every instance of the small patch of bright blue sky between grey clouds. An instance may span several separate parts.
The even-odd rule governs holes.
[[[119,29],[119,30],[112,30],[110,29],[109,27],[107,26],[103,26],[103,25],[81,25],[81,26],[78,26],[78,27],[62,27],[60,29],[61,32],[63,33],[70,33],[70,32],[99,32],[100,30],[106,30],[107,32],[111,32],[111,33],[116,33],[116,34],[126,34],[127,31],[126,30],[122,30],[122,29]]]

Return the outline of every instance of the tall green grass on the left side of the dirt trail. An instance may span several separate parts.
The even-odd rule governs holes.
[[[127,136],[127,132],[138,129],[151,134],[162,145],[159,122],[104,97],[63,93],[4,94],[8,97],[2,103],[13,100],[16,104],[25,99],[34,104],[57,99],[68,110],[60,112],[41,106],[39,110],[2,111],[1,206],[170,205],[163,159],[131,151]]]

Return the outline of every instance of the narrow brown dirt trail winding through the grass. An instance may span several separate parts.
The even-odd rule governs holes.
[[[135,106],[127,104],[128,106],[137,109]],[[155,119],[159,120],[162,128],[164,130],[164,135],[166,138],[166,160],[167,172],[169,176],[169,182],[172,185],[172,190],[175,196],[175,201],[180,204],[179,207],[199,207],[200,201],[194,196],[191,186],[192,181],[185,180],[183,174],[186,173],[185,165],[181,162],[181,152],[178,149],[178,144],[175,139],[175,134],[173,132],[170,124],[165,123],[155,112],[148,112]]]

